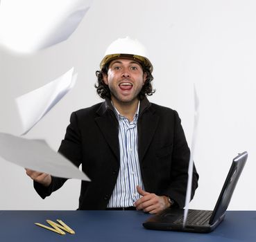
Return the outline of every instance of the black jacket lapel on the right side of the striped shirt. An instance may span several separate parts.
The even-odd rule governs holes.
[[[152,138],[155,135],[155,130],[158,124],[158,116],[154,114],[152,107],[147,109],[138,121],[138,142],[139,142],[139,162],[142,162],[145,153],[151,144]]]

